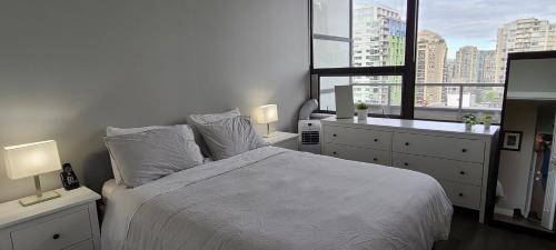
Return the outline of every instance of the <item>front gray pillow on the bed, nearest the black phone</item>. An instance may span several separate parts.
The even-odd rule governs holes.
[[[172,126],[105,138],[110,156],[129,188],[202,163],[188,126]]]

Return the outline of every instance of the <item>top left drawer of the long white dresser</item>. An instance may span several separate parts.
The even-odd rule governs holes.
[[[391,132],[326,126],[325,142],[353,147],[390,150]]]

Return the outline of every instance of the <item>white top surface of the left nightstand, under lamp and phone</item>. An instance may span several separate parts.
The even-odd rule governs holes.
[[[66,210],[100,199],[100,196],[86,187],[66,191],[57,189],[60,198],[22,207],[18,200],[0,203],[0,230],[42,216]]]

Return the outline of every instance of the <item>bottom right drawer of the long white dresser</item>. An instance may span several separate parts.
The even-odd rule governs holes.
[[[480,208],[480,187],[453,181],[438,182],[443,186],[453,204],[469,209]]]

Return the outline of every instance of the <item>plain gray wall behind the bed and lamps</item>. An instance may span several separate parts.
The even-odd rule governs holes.
[[[278,103],[277,128],[294,130],[309,96],[307,22],[299,0],[1,1],[0,146],[54,139],[100,190],[106,126]],[[0,161],[0,201],[32,191]]]

